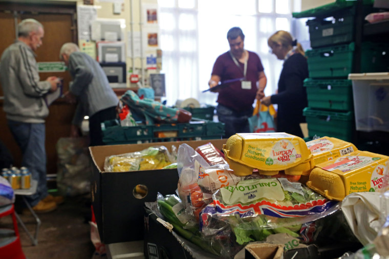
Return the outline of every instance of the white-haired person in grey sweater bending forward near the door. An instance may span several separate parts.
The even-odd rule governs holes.
[[[78,135],[78,127],[84,115],[88,115],[90,146],[103,145],[101,123],[116,119],[119,99],[100,64],[89,55],[80,52],[76,44],[72,42],[63,44],[59,57],[68,66],[73,78],[73,84],[65,96],[69,101],[78,102],[71,135]]]

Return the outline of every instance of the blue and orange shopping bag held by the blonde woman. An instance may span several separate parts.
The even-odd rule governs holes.
[[[249,117],[250,132],[275,132],[274,117],[277,115],[273,105],[256,102],[253,115]]]

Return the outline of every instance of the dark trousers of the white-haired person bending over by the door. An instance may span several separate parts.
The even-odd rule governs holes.
[[[101,123],[104,121],[115,120],[116,119],[116,106],[106,108],[104,110],[98,111],[92,116],[89,117],[89,139],[90,146],[102,146],[103,136],[101,131]]]

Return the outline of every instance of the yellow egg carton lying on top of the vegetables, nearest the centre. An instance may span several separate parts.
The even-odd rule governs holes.
[[[223,152],[235,175],[301,175],[314,167],[304,140],[288,133],[237,133],[227,139]]]

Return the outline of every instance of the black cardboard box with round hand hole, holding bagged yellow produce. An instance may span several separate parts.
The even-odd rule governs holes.
[[[156,201],[158,192],[162,195],[174,194],[178,183],[177,169],[104,172],[105,157],[162,145],[171,151],[172,145],[178,148],[183,143],[196,149],[209,142],[221,150],[226,139],[90,147],[94,162],[92,205],[101,242],[111,244],[142,240],[144,202]],[[147,187],[147,195],[141,199],[133,193],[138,184]]]

